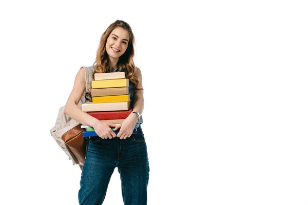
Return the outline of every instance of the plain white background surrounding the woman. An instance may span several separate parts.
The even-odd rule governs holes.
[[[143,75],[148,204],[308,204],[305,1],[198,2],[0,4],[0,204],[78,204],[49,130],[117,19]],[[117,169],[104,204],[123,204]]]

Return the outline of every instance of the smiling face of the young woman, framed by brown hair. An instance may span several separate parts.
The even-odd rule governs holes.
[[[107,38],[106,51],[109,57],[119,58],[127,49],[129,33],[122,27],[117,27],[111,31]]]

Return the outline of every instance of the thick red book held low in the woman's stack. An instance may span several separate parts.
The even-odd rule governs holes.
[[[131,112],[132,109],[123,111],[105,111],[105,112],[87,112],[87,113],[99,120],[108,120],[108,119],[125,119]]]

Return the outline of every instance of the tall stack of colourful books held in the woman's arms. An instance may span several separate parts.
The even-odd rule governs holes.
[[[132,112],[125,72],[95,73],[91,95],[92,102],[82,104],[82,111],[101,121],[118,125]],[[98,136],[89,126],[82,125],[81,128],[85,128],[84,137]]]

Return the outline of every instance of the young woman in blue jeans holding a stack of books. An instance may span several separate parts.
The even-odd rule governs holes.
[[[94,73],[125,72],[129,79],[129,94],[133,111],[121,125],[107,124],[81,111],[77,106],[85,92],[85,70],[75,77],[74,87],[68,97],[65,114],[94,128],[100,137],[89,140],[87,157],[83,166],[80,204],[102,204],[108,183],[115,167],[122,181],[124,204],[146,204],[149,163],[144,134],[141,129],[144,108],[142,75],[134,66],[134,36],[130,26],[116,20],[103,33],[93,64]],[[90,96],[89,96],[90,97]],[[115,134],[114,130],[120,130]],[[121,128],[121,129],[120,129]],[[137,128],[137,134],[132,134]]]

